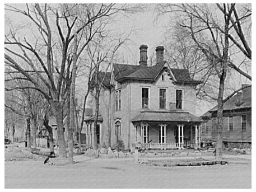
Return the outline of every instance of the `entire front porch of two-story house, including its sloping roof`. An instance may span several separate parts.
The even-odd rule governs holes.
[[[184,111],[141,111],[132,123],[142,149],[200,148],[202,120]]]

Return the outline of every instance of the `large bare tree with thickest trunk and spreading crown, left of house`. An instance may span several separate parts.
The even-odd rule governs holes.
[[[6,4],[6,11],[25,16],[29,19],[31,28],[38,30],[31,29],[31,38],[26,38],[24,35],[19,36],[15,27],[10,24],[4,41],[4,62],[13,71],[21,73],[24,81],[31,82],[30,86],[22,85],[16,88],[35,89],[49,102],[57,120],[60,157],[66,157],[63,105],[71,85],[71,78],[67,83],[64,82],[64,72],[69,56],[72,57],[71,45],[75,34],[83,39],[83,43],[78,45],[77,57],[80,57],[82,50],[97,34],[99,25],[96,23],[104,22],[105,19],[124,10],[132,11],[133,8],[130,9],[125,4],[45,4],[43,7],[40,4],[27,4],[26,10],[22,10]],[[76,15],[78,11],[82,14]],[[87,36],[84,36],[85,32]],[[20,60],[23,61],[22,64]],[[33,71],[44,85],[39,85],[27,70]]]

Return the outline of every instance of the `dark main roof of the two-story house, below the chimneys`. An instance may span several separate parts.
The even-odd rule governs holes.
[[[165,64],[166,61],[157,63],[152,67],[141,67],[139,65],[131,64],[113,64],[115,79],[117,81],[122,81],[123,79],[154,81],[164,68]],[[195,85],[201,83],[200,81],[192,79],[187,69],[171,68],[170,70],[174,76],[175,83],[190,83]]]

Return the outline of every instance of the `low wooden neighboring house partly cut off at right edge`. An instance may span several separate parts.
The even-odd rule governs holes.
[[[242,85],[249,86],[249,85]],[[216,142],[217,106],[201,118],[202,141]],[[207,128],[207,130],[204,130]],[[207,133],[206,133],[207,132]],[[244,88],[224,104],[222,140],[224,147],[244,148],[252,145],[252,86]]]

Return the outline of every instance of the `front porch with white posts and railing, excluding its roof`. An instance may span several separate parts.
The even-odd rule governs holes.
[[[199,124],[141,123],[136,125],[136,141],[142,149],[200,148]]]

